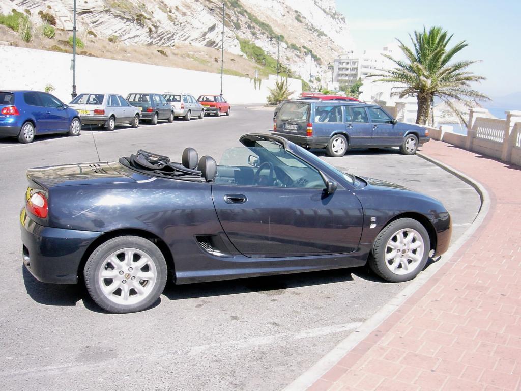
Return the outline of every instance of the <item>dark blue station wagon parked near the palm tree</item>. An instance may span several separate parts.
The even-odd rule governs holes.
[[[400,123],[377,105],[296,100],[284,102],[274,119],[273,135],[305,148],[325,148],[340,157],[352,148],[399,146],[405,155],[429,141],[429,131]]]

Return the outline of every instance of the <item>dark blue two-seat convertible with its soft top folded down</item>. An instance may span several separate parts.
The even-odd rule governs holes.
[[[76,284],[111,312],[151,306],[177,284],[366,263],[391,282],[414,278],[449,246],[443,205],[403,187],[342,173],[292,142],[240,139],[220,164],[146,151],[113,163],[27,171],[23,262],[42,282]]]

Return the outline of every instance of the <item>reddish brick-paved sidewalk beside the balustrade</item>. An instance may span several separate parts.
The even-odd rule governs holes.
[[[441,141],[423,152],[480,182],[489,213],[438,273],[308,390],[521,389],[521,169]]]

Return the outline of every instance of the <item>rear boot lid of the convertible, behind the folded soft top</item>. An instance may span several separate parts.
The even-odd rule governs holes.
[[[119,163],[79,163],[27,170],[27,179],[48,189],[57,186],[135,182],[132,171]]]

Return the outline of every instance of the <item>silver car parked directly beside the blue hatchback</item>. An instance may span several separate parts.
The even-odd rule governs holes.
[[[80,114],[82,124],[104,126],[107,130],[114,130],[116,125],[137,128],[141,118],[139,108],[118,94],[79,94],[69,106]]]

